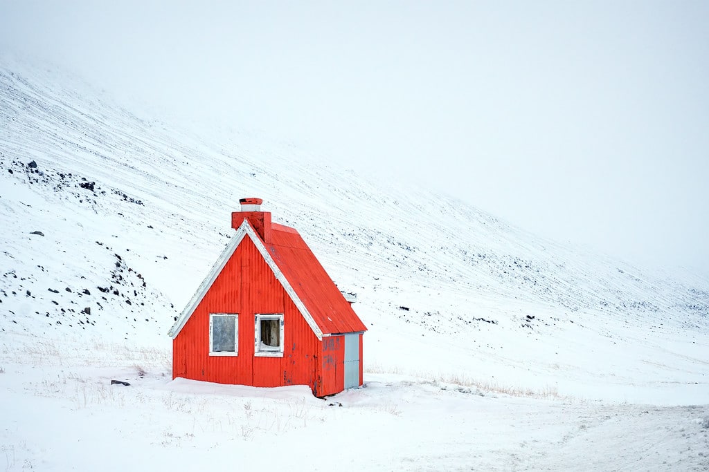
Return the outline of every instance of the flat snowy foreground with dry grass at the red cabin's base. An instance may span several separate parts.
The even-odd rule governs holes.
[[[3,415],[0,459],[10,470],[230,464],[240,470],[678,471],[709,465],[705,405],[483,395],[391,374],[369,374],[364,388],[323,401],[306,386],[223,386],[170,381],[160,368],[140,376],[142,367],[39,362],[8,364],[3,374],[2,401],[11,408]],[[110,385],[116,378],[130,386]]]

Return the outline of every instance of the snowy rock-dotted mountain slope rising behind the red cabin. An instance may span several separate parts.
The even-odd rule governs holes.
[[[257,196],[357,292],[371,369],[589,398],[707,393],[701,277],[545,241],[291,144],[169,127],[53,71],[8,64],[0,328],[10,349],[35,335],[167,349],[238,198]]]

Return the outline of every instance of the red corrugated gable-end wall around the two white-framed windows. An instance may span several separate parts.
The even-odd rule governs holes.
[[[209,355],[209,313],[238,313],[237,356]],[[284,314],[283,357],[254,356],[256,313]],[[263,387],[308,385],[317,396],[342,391],[342,374],[338,379],[337,369],[330,369],[323,376],[320,359],[320,340],[254,243],[244,238],[174,338],[172,376]]]

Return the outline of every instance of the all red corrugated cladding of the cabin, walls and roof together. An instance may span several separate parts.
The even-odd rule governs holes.
[[[273,224],[271,239],[267,251],[323,333],[367,330],[297,231]],[[239,314],[237,356],[209,355],[209,313]],[[284,314],[283,357],[254,356],[256,313]],[[308,385],[316,396],[325,396],[342,391],[344,361],[342,335],[320,342],[255,244],[244,238],[174,338],[172,373],[221,384]]]

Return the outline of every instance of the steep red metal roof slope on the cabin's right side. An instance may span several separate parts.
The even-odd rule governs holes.
[[[274,223],[264,246],[324,334],[367,330],[298,231]]]

